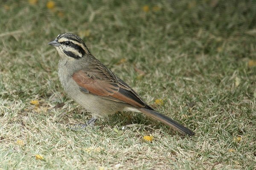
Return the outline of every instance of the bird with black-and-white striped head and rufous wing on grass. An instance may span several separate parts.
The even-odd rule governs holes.
[[[93,126],[99,118],[125,111],[144,113],[185,135],[195,134],[144,102],[129,85],[90,53],[79,36],[61,33],[48,44],[58,51],[58,77],[64,91],[92,115],[84,127]]]

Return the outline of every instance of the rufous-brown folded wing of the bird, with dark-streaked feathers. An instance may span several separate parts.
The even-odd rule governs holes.
[[[132,88],[99,62],[77,71],[73,74],[73,79],[91,94],[125,102],[134,107],[149,107]]]

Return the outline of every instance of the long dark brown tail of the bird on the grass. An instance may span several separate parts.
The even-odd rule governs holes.
[[[195,134],[192,130],[184,127],[183,125],[178,124],[174,120],[170,119],[169,117],[161,113],[158,113],[157,111],[149,110],[146,108],[140,108],[138,110],[141,111],[142,113],[145,113],[147,116],[150,116],[154,119],[159,120],[160,122],[165,123],[166,125],[171,126],[172,128],[180,131],[181,133],[188,134],[189,136],[192,136]]]

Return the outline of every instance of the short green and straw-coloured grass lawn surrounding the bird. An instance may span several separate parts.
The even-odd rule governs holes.
[[[1,170],[256,169],[253,0],[47,3],[0,2]],[[139,113],[68,129],[91,117],[58,80],[58,54],[47,43],[62,32],[82,37],[149,105],[195,136]]]

